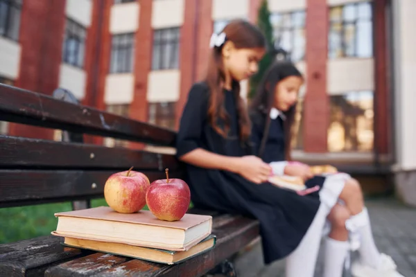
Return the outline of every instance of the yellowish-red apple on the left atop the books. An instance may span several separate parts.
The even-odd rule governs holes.
[[[105,182],[105,202],[116,212],[136,213],[146,205],[149,186],[148,177],[132,168],[114,173]]]

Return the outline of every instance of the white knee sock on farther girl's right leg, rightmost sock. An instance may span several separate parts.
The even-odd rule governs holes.
[[[368,216],[367,208],[364,208],[358,215],[352,216],[345,222],[347,229],[360,236],[360,252],[361,262],[370,267],[377,268],[380,265],[380,252],[374,243],[372,235],[370,217]]]

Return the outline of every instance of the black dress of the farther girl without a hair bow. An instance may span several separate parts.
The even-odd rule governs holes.
[[[261,159],[266,163],[272,161],[284,161],[285,160],[285,140],[284,140],[284,121],[281,116],[270,120],[270,126],[268,132],[266,132],[266,114],[261,111],[254,111],[250,113],[250,120],[252,121],[251,140],[254,148],[254,154],[259,155],[259,148],[261,140],[265,133],[268,133],[264,150],[261,153]],[[321,189],[325,177],[314,176],[311,179],[306,180],[305,186],[312,188],[319,186]],[[319,190],[309,195],[309,197],[319,197]]]

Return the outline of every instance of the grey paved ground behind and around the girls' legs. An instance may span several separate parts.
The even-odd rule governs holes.
[[[392,256],[401,274],[416,277],[416,208],[404,206],[395,199],[370,199],[366,205],[377,247]],[[284,261],[263,267],[259,244],[236,261],[236,268],[240,277],[284,277]],[[315,277],[320,276],[322,253],[315,271]]]

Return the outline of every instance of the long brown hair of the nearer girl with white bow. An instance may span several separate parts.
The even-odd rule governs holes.
[[[265,48],[266,39],[261,30],[250,24],[248,21],[235,19],[230,21],[223,29],[225,42],[233,42],[236,48]],[[224,43],[225,44],[225,43]],[[208,118],[211,126],[218,134],[227,137],[229,132],[229,116],[223,107],[224,93],[222,84],[225,82],[225,71],[223,65],[222,50],[223,46],[214,46],[208,63],[205,82],[210,91]],[[241,141],[247,141],[250,136],[251,125],[248,117],[247,107],[244,100],[240,97],[240,84],[232,80],[232,91],[237,102],[237,113],[239,116],[239,129]],[[223,127],[218,125],[218,118],[222,121]]]

